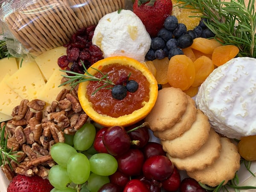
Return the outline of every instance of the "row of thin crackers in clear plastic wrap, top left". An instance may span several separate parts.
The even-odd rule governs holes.
[[[30,52],[44,52],[70,41],[77,29],[125,7],[125,0],[37,0],[12,12],[5,23]]]

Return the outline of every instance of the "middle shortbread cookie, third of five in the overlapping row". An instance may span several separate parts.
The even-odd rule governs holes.
[[[184,158],[198,151],[208,140],[210,124],[208,117],[197,110],[195,122],[191,128],[174,140],[161,140],[163,150],[172,157]]]

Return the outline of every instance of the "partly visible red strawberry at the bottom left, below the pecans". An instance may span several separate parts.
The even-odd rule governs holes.
[[[50,192],[52,189],[49,180],[38,175],[17,175],[10,182],[7,192]]]

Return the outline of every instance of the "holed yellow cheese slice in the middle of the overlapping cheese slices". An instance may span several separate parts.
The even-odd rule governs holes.
[[[38,97],[38,92],[45,86],[45,81],[38,65],[30,62],[10,76],[6,84],[21,98],[31,101]]]

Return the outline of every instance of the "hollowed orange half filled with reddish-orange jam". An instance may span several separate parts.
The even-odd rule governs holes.
[[[114,99],[111,95],[113,85],[100,88],[92,94],[103,85],[102,81],[85,81],[79,84],[78,98],[81,107],[100,125],[132,125],[144,119],[153,108],[158,93],[157,81],[150,70],[139,61],[124,56],[109,57],[96,62],[87,71],[97,77],[102,77],[102,73],[108,74],[113,83],[126,74],[129,75],[129,80],[135,80],[139,84],[137,91],[128,92],[122,100]]]

